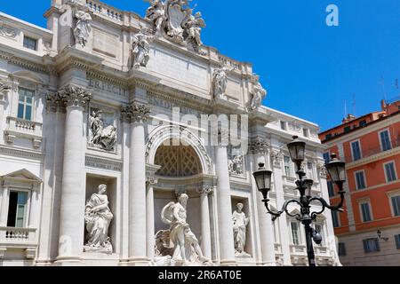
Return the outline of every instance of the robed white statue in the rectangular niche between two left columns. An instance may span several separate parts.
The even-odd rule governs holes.
[[[84,209],[84,223],[88,241],[84,251],[105,252],[112,254],[113,247],[108,237],[108,227],[113,214],[108,208],[106,195],[107,185],[99,185],[99,192],[93,193],[86,202]]]

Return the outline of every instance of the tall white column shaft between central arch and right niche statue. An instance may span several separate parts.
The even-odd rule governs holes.
[[[227,138],[228,133],[221,130],[219,136]],[[217,174],[218,225],[220,230],[220,264],[234,265],[235,244],[232,223],[232,205],[228,171],[228,149],[224,143],[215,146],[215,163]]]

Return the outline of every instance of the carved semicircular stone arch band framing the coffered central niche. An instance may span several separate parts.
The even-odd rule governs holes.
[[[156,152],[160,146],[163,146],[165,141],[173,138],[180,138],[180,141],[186,146],[191,146],[196,152],[196,155],[201,163],[204,175],[213,175],[212,159],[207,153],[204,143],[193,132],[186,127],[179,125],[166,125],[157,127],[148,135],[146,144],[146,162],[155,164]]]

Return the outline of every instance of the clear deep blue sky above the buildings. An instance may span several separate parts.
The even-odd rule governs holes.
[[[104,0],[144,16],[142,0]],[[0,11],[45,27],[50,0],[0,0]],[[400,94],[399,0],[194,0],[207,28],[203,41],[252,62],[268,90],[264,104],[326,130],[348,113],[380,109]],[[339,7],[339,27],[325,22]],[[383,80],[382,80],[383,78]],[[383,84],[382,84],[383,83]],[[384,86],[384,88],[383,88]]]

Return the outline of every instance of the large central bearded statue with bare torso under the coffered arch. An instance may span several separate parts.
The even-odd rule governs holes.
[[[205,265],[210,266],[210,259],[203,256],[196,235],[190,230],[187,218],[188,195],[180,194],[178,202],[168,203],[161,212],[161,219],[170,230],[156,234],[156,257],[158,263],[172,266]],[[168,257],[171,256],[171,259]],[[163,258],[164,257],[164,258]]]

